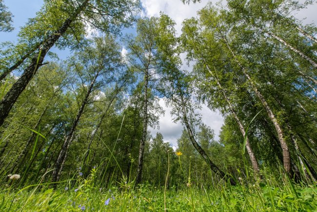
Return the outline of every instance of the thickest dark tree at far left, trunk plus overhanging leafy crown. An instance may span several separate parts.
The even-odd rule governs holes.
[[[68,3],[72,4],[72,2]],[[136,12],[136,6],[138,6],[138,2],[133,0],[111,2],[103,0],[76,1],[75,7],[71,7],[70,11],[67,12],[68,16],[62,25],[41,43],[39,53],[31,59],[31,63],[24,70],[20,79],[3,97],[0,102],[0,126],[2,126],[4,119],[8,116],[22,91],[36,74],[40,65],[42,65],[47,52],[69,30],[72,24],[77,21],[87,21],[104,31],[118,31],[118,28],[120,29],[122,26],[130,24],[133,19],[132,16]]]

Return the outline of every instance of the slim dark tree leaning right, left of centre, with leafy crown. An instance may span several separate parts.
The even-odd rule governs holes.
[[[119,51],[119,45],[110,35],[104,38],[96,38],[94,42],[96,47],[89,46],[83,52],[79,52],[72,59],[71,68],[78,72],[82,80],[83,100],[79,106],[78,113],[70,131],[67,133],[64,144],[59,152],[52,180],[59,180],[63,165],[66,160],[67,150],[74,139],[76,127],[79,119],[87,105],[91,103],[91,93],[102,83],[111,83],[114,73],[119,72],[122,60]],[[100,82],[100,78],[103,82]],[[85,85],[88,84],[88,85]]]

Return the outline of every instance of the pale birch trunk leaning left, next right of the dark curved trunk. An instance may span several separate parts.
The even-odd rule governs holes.
[[[204,59],[203,59],[203,60],[204,60]],[[205,60],[204,60],[204,62],[205,62]],[[206,64],[206,62],[205,62],[205,64]],[[208,64],[206,64],[206,68],[207,68],[207,70],[209,71],[209,73],[210,73],[210,74],[214,77],[214,79],[216,80],[216,83],[217,83],[218,87],[220,88],[220,90],[221,90],[221,92],[222,92],[222,94],[223,94],[223,97],[224,97],[225,100],[227,101],[227,103],[228,103],[228,105],[229,105],[229,108],[230,108],[230,110],[231,110],[233,116],[234,116],[235,119],[236,119],[236,122],[237,122],[237,124],[238,124],[238,126],[239,126],[239,129],[240,129],[240,132],[241,132],[242,136],[246,138],[246,144],[245,144],[245,146],[246,146],[246,148],[247,148],[247,152],[248,152],[248,154],[249,154],[249,157],[250,157],[250,160],[251,160],[251,163],[252,163],[253,170],[255,171],[255,173],[259,173],[260,170],[259,170],[259,168],[258,168],[258,161],[257,161],[257,159],[256,159],[256,156],[255,156],[253,150],[252,150],[252,147],[251,147],[249,138],[247,137],[247,135],[246,135],[246,133],[245,133],[244,127],[243,127],[243,125],[242,125],[240,119],[238,118],[238,115],[237,115],[237,113],[236,113],[236,110],[234,109],[234,106],[231,104],[229,98],[227,97],[227,95],[226,95],[225,92],[224,92],[224,89],[222,88],[221,84],[219,83],[218,79],[215,77],[215,75],[213,74],[213,72],[210,70]]]

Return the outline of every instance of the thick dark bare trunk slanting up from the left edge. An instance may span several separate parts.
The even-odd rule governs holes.
[[[10,90],[5,94],[2,101],[0,102],[0,127],[2,126],[4,119],[8,116],[12,106],[15,104],[19,98],[22,91],[28,85],[32,77],[36,74],[39,66],[42,65],[43,60],[50,48],[59,40],[66,30],[69,28],[70,24],[77,18],[79,13],[87,6],[89,0],[85,0],[76,10],[75,13],[65,20],[63,25],[56,32],[43,42],[40,47],[39,55],[34,55],[31,59],[31,63],[24,70],[23,74],[19,80],[12,85]]]

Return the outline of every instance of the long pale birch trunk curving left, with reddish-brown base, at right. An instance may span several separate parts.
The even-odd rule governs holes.
[[[291,171],[291,156],[290,156],[290,152],[288,149],[288,146],[286,144],[285,141],[285,136],[284,133],[282,131],[282,127],[280,127],[280,125],[277,122],[277,118],[275,117],[271,107],[269,106],[269,104],[266,102],[265,98],[262,96],[262,94],[258,91],[258,87],[256,86],[256,84],[253,82],[253,80],[251,79],[251,77],[249,76],[249,74],[247,73],[246,69],[242,66],[242,64],[239,63],[235,53],[233,52],[233,50],[230,48],[229,43],[227,42],[227,40],[225,38],[223,38],[229,51],[231,52],[233,58],[235,59],[236,63],[240,66],[240,68],[243,71],[243,74],[246,76],[246,78],[248,79],[248,81],[250,82],[254,92],[256,93],[256,95],[258,96],[258,98],[260,99],[262,105],[264,106],[271,122],[273,123],[276,131],[277,131],[277,136],[278,136],[278,140],[280,142],[281,148],[282,148],[282,153],[283,153],[283,166],[284,169],[287,173],[290,173]]]

